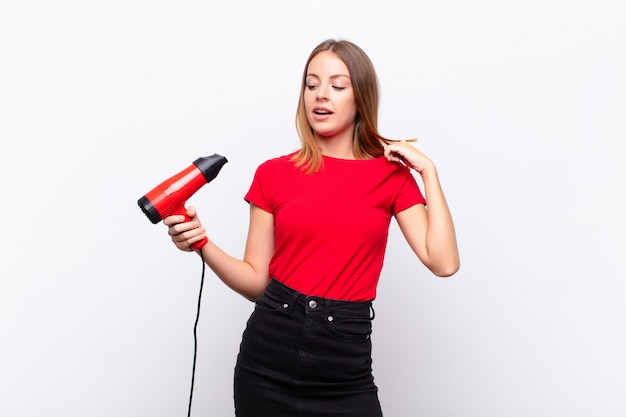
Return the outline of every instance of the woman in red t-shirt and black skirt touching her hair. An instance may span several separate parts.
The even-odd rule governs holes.
[[[298,152],[261,164],[245,196],[243,259],[210,239],[207,265],[256,306],[235,367],[238,417],[382,416],[371,370],[372,301],[392,216],[435,275],[459,268],[452,217],[433,162],[377,132],[374,67],[355,44],[309,56],[296,116]],[[428,208],[412,171],[423,181]],[[192,251],[205,228],[164,219]]]

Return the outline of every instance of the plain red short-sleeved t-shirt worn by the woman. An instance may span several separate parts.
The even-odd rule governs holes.
[[[269,276],[306,295],[373,300],[392,215],[426,203],[415,178],[383,157],[324,156],[307,174],[292,156],[261,164],[245,196],[274,215]]]

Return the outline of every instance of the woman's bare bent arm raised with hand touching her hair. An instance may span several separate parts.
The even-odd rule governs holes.
[[[396,214],[402,234],[433,274],[440,277],[453,275],[459,269],[459,251],[452,215],[435,165],[405,142],[387,146],[385,156],[390,161],[403,162],[416,170],[424,183],[428,206],[420,204]]]

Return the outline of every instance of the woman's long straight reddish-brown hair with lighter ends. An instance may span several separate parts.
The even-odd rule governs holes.
[[[316,172],[322,166],[322,155],[304,108],[307,69],[311,60],[324,51],[334,53],[346,64],[352,80],[357,108],[352,139],[354,156],[357,159],[381,156],[384,151],[383,143],[392,142],[378,133],[378,78],[372,61],[359,46],[350,41],[327,39],[313,49],[306,61],[296,112],[296,130],[300,137],[301,148],[294,155],[293,160],[296,166],[307,173]]]

